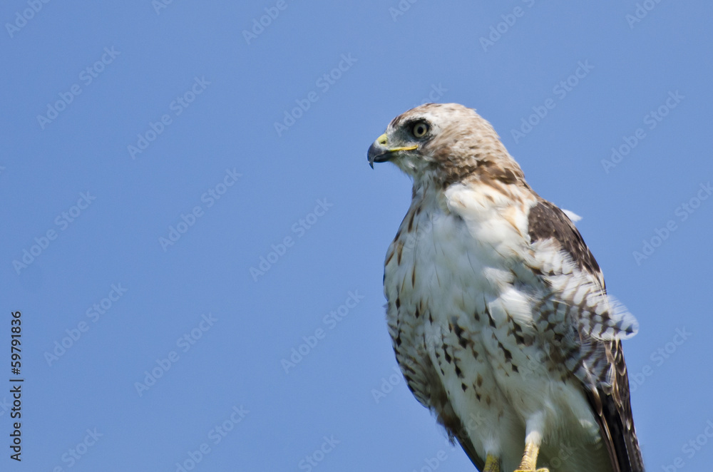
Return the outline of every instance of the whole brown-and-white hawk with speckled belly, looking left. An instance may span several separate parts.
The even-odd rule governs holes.
[[[643,471],[620,342],[636,320],[490,123],[428,103],[368,158],[414,180],[386,317],[409,389],[451,439],[481,471]]]

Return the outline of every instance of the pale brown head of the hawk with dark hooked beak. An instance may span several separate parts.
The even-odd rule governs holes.
[[[504,179],[524,184],[520,166],[491,124],[458,103],[426,103],[397,116],[366,157],[372,168],[393,162],[414,183]]]

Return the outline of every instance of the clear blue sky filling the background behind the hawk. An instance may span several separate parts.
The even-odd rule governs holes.
[[[471,470],[382,307],[411,184],[366,149],[423,101],[583,216],[648,469],[709,466],[709,2],[159,1],[0,6],[2,470]]]

